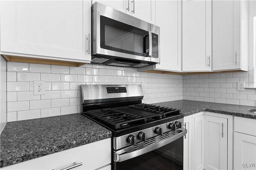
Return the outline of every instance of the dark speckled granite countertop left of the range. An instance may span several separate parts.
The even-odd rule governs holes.
[[[81,114],[9,122],[0,138],[1,165],[9,166],[112,136]]]

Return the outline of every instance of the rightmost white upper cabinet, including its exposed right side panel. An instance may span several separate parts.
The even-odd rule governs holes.
[[[248,1],[212,1],[212,70],[248,70]]]

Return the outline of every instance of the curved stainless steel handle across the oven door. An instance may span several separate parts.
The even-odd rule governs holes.
[[[142,154],[145,154],[147,152],[150,152],[152,150],[155,150],[155,149],[158,149],[160,147],[163,147],[164,145],[167,145],[177,139],[179,139],[180,137],[186,135],[187,133],[187,129],[185,129],[184,131],[182,131],[181,133],[169,138],[169,139],[166,139],[164,141],[160,141],[154,145],[151,145],[149,147],[146,147],[146,148],[143,148],[143,149],[139,149],[139,150],[135,150],[133,152],[129,152],[129,153],[124,153],[124,154],[120,154],[120,155],[116,155],[116,162],[123,162],[125,160],[128,160],[128,159],[131,159],[131,158],[134,158],[136,156],[140,156]]]

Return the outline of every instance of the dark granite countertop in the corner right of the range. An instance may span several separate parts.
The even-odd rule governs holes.
[[[156,105],[180,109],[181,113],[183,113],[184,116],[192,115],[194,113],[199,113],[201,111],[209,111],[214,113],[222,113],[226,115],[234,115],[238,117],[256,119],[256,113],[249,112],[249,110],[251,109],[256,109],[256,107],[252,107],[252,106],[239,106],[239,105],[232,105],[232,104],[197,102],[197,101],[191,101],[191,100],[177,100],[173,102],[162,102],[162,103],[157,103]]]

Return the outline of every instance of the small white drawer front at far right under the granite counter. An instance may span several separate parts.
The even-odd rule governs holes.
[[[256,136],[256,119],[234,117],[234,131]]]

